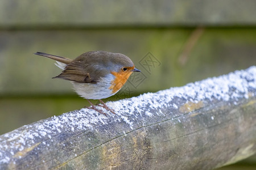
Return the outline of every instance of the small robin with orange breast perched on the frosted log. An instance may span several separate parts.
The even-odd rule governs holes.
[[[126,83],[131,73],[134,71],[141,72],[135,69],[129,57],[119,53],[86,52],[75,59],[42,52],[35,54],[56,60],[55,65],[63,71],[53,78],[71,81],[77,94],[90,103],[91,106],[88,108],[102,114],[105,113],[101,109],[97,109],[89,99],[100,100],[102,104],[99,105],[100,107],[115,113],[101,99],[116,94]]]

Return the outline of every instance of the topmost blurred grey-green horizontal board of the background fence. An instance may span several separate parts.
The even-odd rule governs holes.
[[[256,2],[193,1],[1,1],[0,27],[117,27],[255,25]]]

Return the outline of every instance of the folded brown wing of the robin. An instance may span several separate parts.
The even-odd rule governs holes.
[[[105,75],[104,72],[105,70],[97,70],[81,61],[74,61],[69,63],[60,75],[53,78],[61,78],[79,83],[97,83],[101,76]]]

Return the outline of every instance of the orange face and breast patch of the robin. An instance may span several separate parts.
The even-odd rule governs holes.
[[[133,73],[130,70],[133,70],[134,67],[129,68],[129,71],[119,71],[119,72],[111,72],[115,79],[112,81],[112,86],[109,87],[110,90],[112,90],[113,94],[116,93],[121,87],[123,87],[123,84],[126,83],[127,79]]]

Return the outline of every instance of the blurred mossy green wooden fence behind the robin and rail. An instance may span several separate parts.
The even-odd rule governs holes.
[[[61,71],[54,61],[32,53],[129,56],[142,74],[105,99],[118,100],[256,65],[255,7],[253,0],[1,1],[0,134],[88,105],[71,83],[51,79]]]

